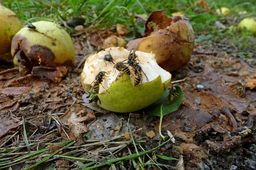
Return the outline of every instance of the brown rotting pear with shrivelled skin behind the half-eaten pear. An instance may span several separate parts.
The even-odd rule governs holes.
[[[144,37],[130,41],[126,48],[155,54],[157,64],[175,71],[189,62],[194,47],[194,31],[185,17],[168,17],[154,11],[145,23]]]

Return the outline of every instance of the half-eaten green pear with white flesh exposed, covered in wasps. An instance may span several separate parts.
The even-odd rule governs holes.
[[[108,111],[114,112],[132,112],[147,107],[159,99],[168,88],[172,75],[160,68],[154,59],[154,54],[136,51],[137,60],[140,67],[145,73],[142,75],[142,83],[134,86],[134,70],[129,66],[131,70],[131,77],[122,71],[113,69],[114,64],[112,62],[106,62],[99,59],[110,51],[111,56],[115,64],[128,59],[130,51],[119,48],[107,48],[105,51],[100,51],[98,54],[90,55],[84,64],[84,69],[81,74],[81,82],[85,91],[94,92],[92,83],[96,76],[105,71],[105,76],[102,82],[99,83],[99,97],[98,105]],[[90,89],[90,90],[88,90]],[[98,88],[95,88],[96,90]]]

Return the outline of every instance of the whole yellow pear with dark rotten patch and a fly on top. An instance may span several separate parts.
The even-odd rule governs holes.
[[[39,74],[60,82],[75,62],[71,38],[61,26],[52,22],[38,21],[32,26],[22,28],[12,39],[14,65],[22,75]]]

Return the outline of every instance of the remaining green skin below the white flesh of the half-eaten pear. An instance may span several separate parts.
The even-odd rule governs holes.
[[[124,81],[126,79],[129,79],[129,75],[124,74],[112,83],[108,89],[109,94],[98,94],[98,105],[108,111],[119,113],[138,111],[159,99],[171,81],[169,79],[162,83],[159,76],[149,83],[134,87],[131,81]]]

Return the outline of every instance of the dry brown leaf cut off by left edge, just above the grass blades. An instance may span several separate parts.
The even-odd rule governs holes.
[[[15,129],[19,126],[13,119],[3,118],[0,119],[0,138],[5,135],[9,130]]]

